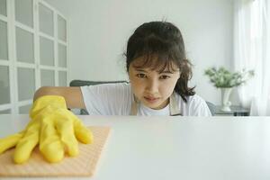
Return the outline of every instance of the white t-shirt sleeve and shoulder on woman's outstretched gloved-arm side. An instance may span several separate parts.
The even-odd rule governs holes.
[[[89,114],[129,114],[131,95],[126,83],[81,86],[81,91]]]

